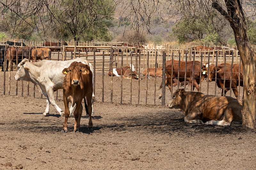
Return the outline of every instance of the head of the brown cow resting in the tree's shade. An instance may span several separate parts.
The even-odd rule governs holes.
[[[185,89],[177,89],[172,95],[172,100],[169,102],[169,108],[181,109],[182,96],[184,95]]]

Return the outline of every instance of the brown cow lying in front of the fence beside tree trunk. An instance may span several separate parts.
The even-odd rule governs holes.
[[[226,126],[232,122],[242,123],[242,102],[229,96],[204,95],[178,89],[173,93],[168,107],[181,110],[186,123]]]

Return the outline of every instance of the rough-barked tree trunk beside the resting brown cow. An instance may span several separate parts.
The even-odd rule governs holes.
[[[240,0],[226,0],[228,13],[222,9],[218,1],[213,0],[212,6],[229,21],[234,31],[244,71],[243,126],[254,128],[256,124],[256,53],[247,35]]]

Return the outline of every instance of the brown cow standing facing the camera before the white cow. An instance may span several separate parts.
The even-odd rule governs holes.
[[[68,131],[68,117],[70,115],[68,103],[72,107],[76,104],[74,111],[75,125],[74,131],[79,132],[80,120],[83,112],[82,100],[84,99],[85,108],[88,107],[89,128],[92,128],[92,71],[90,67],[81,62],[73,62],[68,68],[62,70],[65,74],[63,81],[63,101],[65,105],[65,122],[62,132]],[[87,105],[86,100],[87,99]],[[80,106],[80,107],[79,107]]]

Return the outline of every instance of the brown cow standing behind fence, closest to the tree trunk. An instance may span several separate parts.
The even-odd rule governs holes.
[[[205,73],[208,73],[209,82],[215,81],[215,74],[216,74],[216,65],[215,64],[209,64],[209,73],[208,67],[202,69]],[[225,72],[225,78],[224,78],[224,70]],[[240,74],[240,86],[244,86],[244,75],[243,75],[243,66],[240,66],[239,70],[239,64],[233,64],[232,67],[232,79],[231,79],[231,88],[236,96],[236,99],[238,100],[238,90],[237,86],[239,85],[239,74]],[[217,65],[217,86],[222,89],[221,95],[226,95],[226,93],[230,90],[230,76],[231,76],[231,64],[221,63],[220,65]],[[224,79],[225,79],[225,90],[224,90]],[[224,93],[223,93],[224,92]]]

